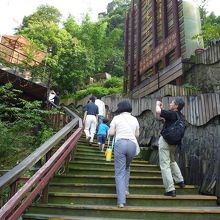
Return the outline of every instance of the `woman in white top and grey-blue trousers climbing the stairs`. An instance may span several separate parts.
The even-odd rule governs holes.
[[[115,183],[118,207],[126,204],[128,192],[130,163],[139,153],[137,137],[139,136],[138,120],[131,115],[132,106],[129,101],[118,103],[118,114],[110,123],[109,135],[115,135]]]

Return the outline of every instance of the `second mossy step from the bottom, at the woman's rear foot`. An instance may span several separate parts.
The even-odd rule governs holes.
[[[79,205],[112,205],[117,204],[116,194],[94,193],[49,193],[49,203],[79,204]],[[129,194],[126,206],[216,206],[215,196],[178,195],[176,197],[163,195]]]

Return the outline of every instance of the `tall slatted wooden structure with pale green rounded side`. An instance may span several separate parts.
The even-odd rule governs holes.
[[[126,17],[124,91],[132,98],[167,84],[181,85],[184,60],[203,47],[191,0],[133,0]]]

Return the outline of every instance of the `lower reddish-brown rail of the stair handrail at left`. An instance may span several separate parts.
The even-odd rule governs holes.
[[[48,183],[49,179],[54,175],[54,173],[62,165],[64,159],[72,151],[72,148],[76,145],[77,139],[75,137],[80,137],[81,128],[78,128],[74,134],[57,150],[57,152],[45,163],[41,169],[39,169],[3,207],[2,211],[0,210],[0,219],[5,219],[7,215],[13,210],[25,195],[32,189],[32,193],[23,201],[20,205],[20,208],[15,210],[10,218],[7,219],[17,219],[21,216],[24,210],[31,204],[33,199],[37,196],[38,193],[42,191],[44,186]],[[67,149],[66,149],[67,148]]]

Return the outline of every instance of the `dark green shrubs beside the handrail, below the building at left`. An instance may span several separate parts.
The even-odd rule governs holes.
[[[41,129],[49,127],[47,116],[50,112],[42,110],[41,102],[26,101],[21,95],[22,92],[13,89],[11,84],[0,88],[1,156],[38,147],[44,141]]]

